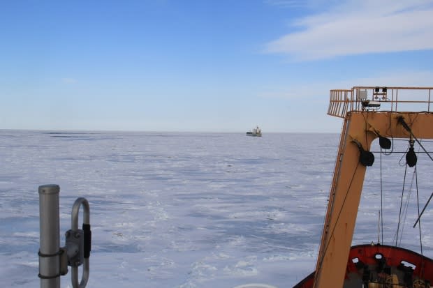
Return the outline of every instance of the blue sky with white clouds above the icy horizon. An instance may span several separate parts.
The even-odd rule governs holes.
[[[339,132],[330,89],[433,86],[432,15],[432,0],[3,1],[0,128]]]

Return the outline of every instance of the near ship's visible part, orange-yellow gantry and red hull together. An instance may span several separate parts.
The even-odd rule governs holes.
[[[344,124],[316,270],[296,288],[433,285],[430,258],[380,244],[351,248],[365,172],[374,162],[369,151],[373,140],[379,137],[381,144],[388,145],[389,137],[408,138],[412,143],[433,139],[432,91],[433,87],[376,86],[330,91],[328,114],[343,118]],[[419,107],[422,111],[413,111]],[[408,165],[416,165],[413,155],[412,147],[406,156]]]

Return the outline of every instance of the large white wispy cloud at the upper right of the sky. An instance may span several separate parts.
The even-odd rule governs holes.
[[[289,1],[291,2],[291,1]],[[267,43],[270,53],[328,59],[433,49],[433,0],[350,0],[293,22],[296,31]]]

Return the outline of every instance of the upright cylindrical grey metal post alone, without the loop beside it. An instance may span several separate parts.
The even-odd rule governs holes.
[[[39,186],[41,288],[60,288],[59,185]]]

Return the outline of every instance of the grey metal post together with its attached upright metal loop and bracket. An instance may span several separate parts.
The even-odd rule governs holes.
[[[89,280],[91,250],[90,209],[85,198],[75,200],[71,214],[71,229],[66,232],[66,245],[59,247],[59,185],[39,186],[41,246],[39,248],[39,278],[41,288],[60,288],[60,276],[71,266],[73,288],[84,288]],[[82,229],[78,229],[78,213],[83,206]],[[78,267],[83,265],[78,282]]]

